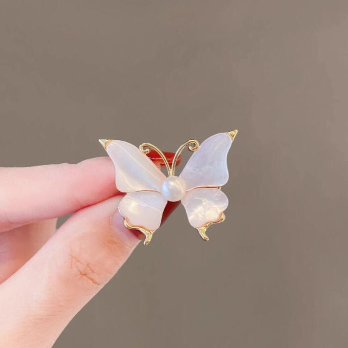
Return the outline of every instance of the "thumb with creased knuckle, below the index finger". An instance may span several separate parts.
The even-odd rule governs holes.
[[[139,242],[117,211],[122,196],[69,218],[0,286],[0,347],[51,347]],[[21,333],[21,334],[19,334]]]

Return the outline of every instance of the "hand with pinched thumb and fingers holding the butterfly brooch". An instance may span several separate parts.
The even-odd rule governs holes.
[[[142,234],[124,226],[122,195],[106,157],[0,168],[0,347],[52,347],[128,259]]]

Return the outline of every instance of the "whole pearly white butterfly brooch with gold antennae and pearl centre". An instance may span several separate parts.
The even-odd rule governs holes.
[[[172,165],[165,154],[150,143],[136,146],[122,140],[100,139],[114,166],[116,187],[126,193],[119,204],[125,226],[145,235],[149,244],[153,232],[161,224],[168,201],[181,201],[191,226],[204,240],[206,230],[213,223],[225,220],[227,196],[221,186],[228,181],[227,153],[238,131],[215,134],[199,145],[188,140],[175,152]],[[181,152],[188,147],[193,152],[179,176],[175,175]],[[148,157],[156,152],[164,162],[168,176]]]

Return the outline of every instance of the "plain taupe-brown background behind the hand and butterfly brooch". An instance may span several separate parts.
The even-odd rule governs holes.
[[[348,346],[347,35],[346,0],[0,1],[2,166],[240,131],[211,241],[177,209],[55,348]]]

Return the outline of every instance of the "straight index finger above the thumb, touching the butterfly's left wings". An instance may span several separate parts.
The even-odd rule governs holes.
[[[107,157],[78,164],[0,168],[0,232],[63,216],[117,193]]]

